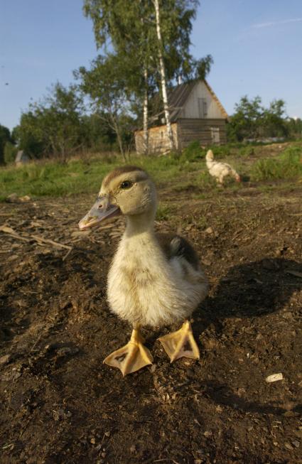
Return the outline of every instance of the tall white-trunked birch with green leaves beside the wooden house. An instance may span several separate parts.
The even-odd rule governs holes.
[[[148,150],[148,108],[154,82],[163,100],[168,139],[173,134],[168,107],[168,85],[191,72],[190,33],[198,0],[84,0],[92,19],[98,47],[110,43],[116,53],[136,60],[128,91],[143,106],[144,149]]]

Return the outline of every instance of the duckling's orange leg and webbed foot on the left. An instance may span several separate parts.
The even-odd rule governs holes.
[[[140,326],[136,325],[132,330],[130,341],[103,361],[109,366],[118,367],[123,377],[141,369],[141,367],[152,364],[153,357],[148,348],[143,345],[144,338],[139,329]]]

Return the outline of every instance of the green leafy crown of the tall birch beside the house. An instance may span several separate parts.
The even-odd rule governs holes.
[[[198,0],[159,2],[161,44],[156,34],[153,1],[85,0],[83,10],[92,19],[97,47],[111,43],[117,54],[134,58],[140,68],[140,90],[144,90],[144,70],[153,75],[153,82],[158,78],[158,47],[163,53],[168,80],[190,73],[190,33],[197,7]]]

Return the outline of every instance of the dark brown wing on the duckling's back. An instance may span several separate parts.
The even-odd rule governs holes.
[[[158,243],[168,259],[184,257],[194,269],[199,268],[198,255],[188,240],[176,234],[156,234]]]

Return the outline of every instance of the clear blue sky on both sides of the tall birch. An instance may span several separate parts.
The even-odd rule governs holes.
[[[97,49],[82,0],[0,0],[0,11],[0,124],[12,129]],[[192,42],[196,58],[213,56],[208,81],[229,114],[243,95],[260,95],[302,117],[301,0],[202,0]]]

